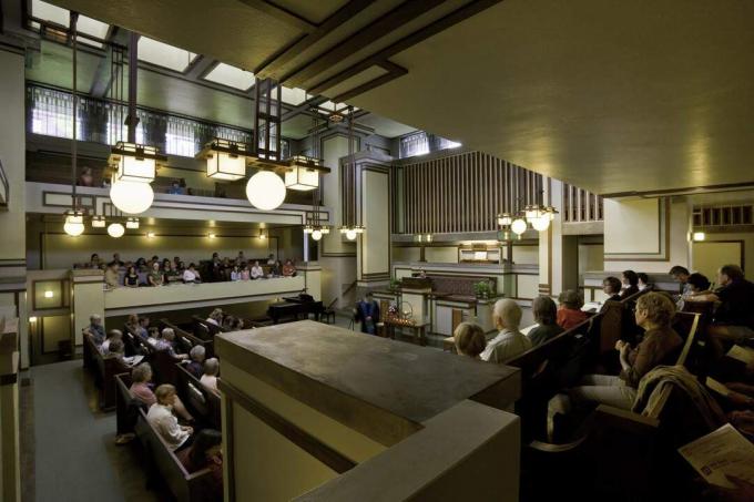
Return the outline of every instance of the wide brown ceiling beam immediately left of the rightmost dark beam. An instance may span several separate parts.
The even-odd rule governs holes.
[[[281,79],[288,86],[300,88],[323,71],[339,63],[349,55],[367,48],[386,34],[407,24],[419,16],[444,3],[446,0],[410,0],[380,17],[353,37],[343,40],[322,55],[292,71]]]

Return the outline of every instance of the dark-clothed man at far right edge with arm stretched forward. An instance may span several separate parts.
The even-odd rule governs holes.
[[[737,265],[725,265],[717,270],[715,293],[696,295],[689,300],[720,301],[707,332],[716,339],[733,342],[754,338],[754,284],[744,278]]]

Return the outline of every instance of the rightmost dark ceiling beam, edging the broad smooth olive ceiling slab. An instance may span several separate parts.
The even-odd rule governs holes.
[[[330,76],[329,79],[326,79],[313,86],[308,88],[308,91],[312,94],[319,94],[323,91],[326,91],[327,89],[339,84],[340,82],[350,79],[354,75],[357,75],[361,73],[364,70],[374,66],[376,64],[381,64],[381,63],[389,63],[388,58],[405,51],[406,49],[409,49],[414,45],[416,45],[419,42],[422,42],[427,40],[430,37],[436,35],[437,33],[440,33],[441,31],[447,30],[448,28],[452,27],[454,24],[458,24],[459,22],[478,14],[479,12],[489,9],[490,7],[500,3],[502,0],[475,0],[470,3],[467,3],[466,6],[456,9],[455,11],[450,12],[449,14],[438,19],[437,21],[427,24],[422,29],[404,37],[403,39],[398,40],[391,45],[388,45],[387,48],[383,49],[381,51],[377,52],[376,54],[373,54],[359,63],[356,63],[351,65],[350,68],[342,71],[340,73]]]

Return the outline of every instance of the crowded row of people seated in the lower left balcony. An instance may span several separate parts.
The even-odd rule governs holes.
[[[246,259],[244,252],[238,252],[234,258],[221,258],[213,253],[212,258],[200,265],[188,263],[175,256],[173,259],[152,256],[151,259],[137,258],[134,262],[123,262],[119,253],[113,259],[104,263],[94,253],[86,264],[75,265],[74,268],[99,268],[104,270],[104,283],[110,289],[118,287],[157,287],[174,283],[200,284],[202,281],[221,283],[238,280],[256,280],[271,277],[295,277],[296,265],[293,259],[285,263],[269,255],[267,259]]]

